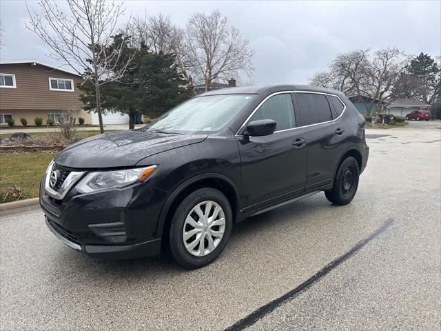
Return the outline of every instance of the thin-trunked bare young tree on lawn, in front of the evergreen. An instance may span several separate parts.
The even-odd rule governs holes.
[[[41,0],[38,14],[28,8],[28,28],[50,47],[52,58],[64,61],[94,85],[96,112],[103,133],[100,86],[123,77],[132,59],[119,61],[126,43],[113,46],[116,24],[124,9],[105,0],[68,0],[67,3],[67,11],[61,10],[54,0]]]

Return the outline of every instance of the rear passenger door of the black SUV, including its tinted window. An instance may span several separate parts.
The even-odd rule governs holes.
[[[334,169],[347,145],[348,132],[340,119],[345,105],[337,97],[318,92],[295,92],[294,101],[302,126],[298,130],[308,141],[306,190],[309,191],[332,182]]]

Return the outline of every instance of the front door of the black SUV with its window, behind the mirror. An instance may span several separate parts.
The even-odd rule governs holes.
[[[291,93],[269,97],[247,123],[259,119],[273,119],[277,126],[269,136],[238,136],[245,212],[305,192],[307,141],[294,130]]]

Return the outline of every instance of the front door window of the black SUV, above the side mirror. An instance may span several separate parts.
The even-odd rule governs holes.
[[[276,94],[270,97],[258,108],[248,123],[259,119],[274,119],[277,123],[276,131],[295,128],[296,119],[294,119],[291,94]]]

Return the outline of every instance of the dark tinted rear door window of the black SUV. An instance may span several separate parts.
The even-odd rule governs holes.
[[[331,121],[331,108],[326,96],[316,93],[295,93],[296,114],[299,115],[302,126],[309,126]]]

